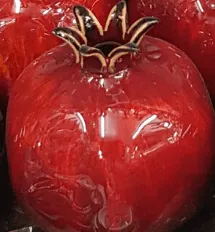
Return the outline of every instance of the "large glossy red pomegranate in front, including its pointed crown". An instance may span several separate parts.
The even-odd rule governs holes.
[[[145,36],[156,18],[129,28],[124,1],[105,27],[84,7],[74,12],[78,29],[54,30],[70,46],[35,60],[12,90],[16,195],[50,232],[169,232],[197,211],[211,183],[205,85],[183,52]],[[103,42],[93,44],[94,35]]]

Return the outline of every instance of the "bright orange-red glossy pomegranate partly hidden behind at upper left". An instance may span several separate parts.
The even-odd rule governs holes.
[[[103,20],[116,0],[0,1],[0,96],[7,95],[31,61],[60,43],[51,31],[74,24],[71,13],[75,3],[85,4]]]

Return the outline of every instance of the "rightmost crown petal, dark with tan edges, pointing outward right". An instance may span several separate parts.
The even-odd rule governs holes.
[[[137,20],[128,30],[128,34],[131,34],[130,42],[138,46],[144,35],[158,22],[159,20],[155,17],[144,17]]]

